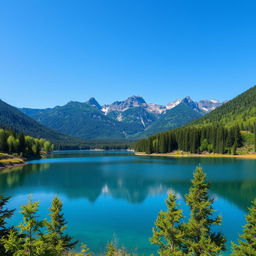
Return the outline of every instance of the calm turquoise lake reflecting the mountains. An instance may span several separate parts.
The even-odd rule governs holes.
[[[158,212],[174,191],[184,215],[184,203],[196,166],[211,182],[214,207],[223,216],[220,230],[230,241],[238,238],[244,215],[256,198],[256,160],[233,158],[164,158],[134,156],[126,151],[60,151],[47,159],[0,172],[0,193],[12,196],[19,209],[33,195],[45,217],[58,195],[64,203],[68,232],[95,253],[115,241],[130,252],[150,255],[148,241]],[[11,224],[20,221],[20,215]]]

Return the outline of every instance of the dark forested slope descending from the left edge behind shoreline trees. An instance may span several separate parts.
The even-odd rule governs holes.
[[[31,110],[31,112],[33,112],[33,110]],[[36,138],[45,138],[53,143],[72,141],[72,138],[59,134],[39,124],[34,119],[2,100],[0,100],[0,127]]]

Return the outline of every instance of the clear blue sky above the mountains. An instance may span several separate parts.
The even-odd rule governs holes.
[[[255,0],[3,0],[0,98],[230,99],[256,84]]]

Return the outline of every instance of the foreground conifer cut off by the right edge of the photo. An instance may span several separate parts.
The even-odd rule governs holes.
[[[232,244],[234,256],[256,255],[256,200],[249,208],[246,221],[243,234],[240,235],[242,240],[239,240],[238,244]]]

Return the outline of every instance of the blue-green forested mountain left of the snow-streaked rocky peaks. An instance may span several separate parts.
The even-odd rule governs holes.
[[[94,101],[89,104],[70,101],[64,106],[43,111],[22,111],[33,113],[31,117],[38,122],[69,136],[83,139],[124,138],[120,123],[100,111]]]

